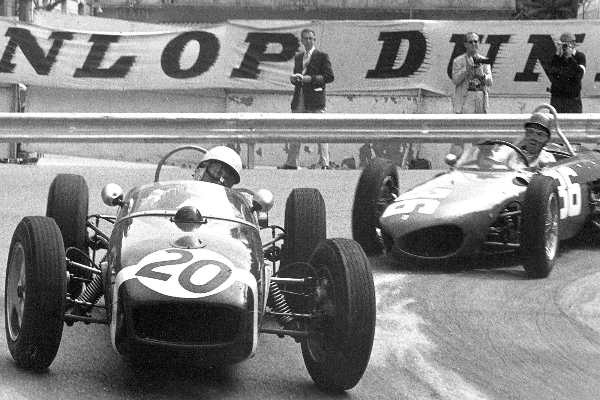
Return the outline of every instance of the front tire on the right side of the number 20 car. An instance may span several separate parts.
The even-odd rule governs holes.
[[[376,305],[370,264],[351,239],[325,240],[309,263],[317,273],[311,309],[319,318],[307,320],[307,330],[320,338],[302,339],[304,363],[321,389],[349,390],[367,369],[373,347]]]

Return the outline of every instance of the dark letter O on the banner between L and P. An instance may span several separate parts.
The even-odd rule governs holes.
[[[182,70],[179,62],[181,53],[185,46],[192,40],[196,40],[200,45],[198,58],[194,65],[187,70]],[[163,55],[160,58],[160,65],[167,76],[175,79],[193,78],[202,75],[215,64],[219,56],[221,44],[218,38],[210,32],[193,31],[185,32],[169,42],[164,47]]]

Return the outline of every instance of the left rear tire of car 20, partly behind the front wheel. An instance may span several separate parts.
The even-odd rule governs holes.
[[[86,219],[88,218],[89,190],[88,184],[81,175],[58,174],[50,185],[48,191],[48,203],[46,207],[46,216],[56,221],[62,234],[62,241],[65,249],[76,247],[89,255],[89,249],[86,245],[87,228]],[[80,252],[70,251],[68,253],[70,260],[89,266],[89,260]],[[80,278],[92,279],[89,272],[74,273]],[[82,282],[71,280],[68,287],[68,293],[71,299],[76,299],[82,291]]]

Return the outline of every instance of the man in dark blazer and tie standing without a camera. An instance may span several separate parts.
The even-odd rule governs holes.
[[[294,59],[294,73],[290,82],[295,86],[292,99],[293,113],[325,113],[325,84],[334,82],[334,71],[326,53],[315,49],[317,38],[313,29],[302,29],[300,34],[304,53]],[[329,169],[329,145],[319,143],[319,164],[322,169]],[[290,143],[287,160],[278,169],[297,170],[300,143]]]

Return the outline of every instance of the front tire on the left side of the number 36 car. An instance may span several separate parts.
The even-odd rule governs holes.
[[[352,207],[352,237],[367,255],[381,254],[379,217],[398,196],[398,170],[392,161],[375,158],[362,171]]]

